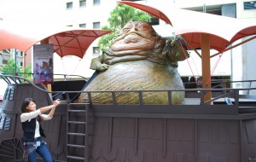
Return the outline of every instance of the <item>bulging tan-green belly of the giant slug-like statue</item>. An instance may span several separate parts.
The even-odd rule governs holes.
[[[114,64],[105,72],[100,72],[84,91],[97,90],[183,90],[183,82],[177,68],[160,65],[151,61],[127,61]],[[82,93],[78,101],[86,101]],[[172,103],[182,104],[183,91],[172,92]],[[94,103],[112,103],[111,93],[92,93]],[[116,93],[118,104],[137,104],[139,95],[134,92]],[[168,93],[143,92],[144,104],[168,104]]]

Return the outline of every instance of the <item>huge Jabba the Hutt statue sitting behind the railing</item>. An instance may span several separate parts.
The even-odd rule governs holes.
[[[118,104],[137,104],[138,93],[125,90],[183,90],[183,82],[177,72],[177,61],[189,54],[183,50],[177,38],[161,38],[148,22],[128,23],[113,39],[113,45],[93,59],[90,68],[99,71],[84,91],[118,90]],[[76,102],[87,101],[82,93]],[[172,104],[182,104],[184,92],[172,92]],[[94,103],[111,103],[111,93],[92,93]],[[167,104],[168,93],[143,92],[144,104]]]

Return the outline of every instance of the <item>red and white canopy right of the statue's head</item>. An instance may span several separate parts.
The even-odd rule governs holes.
[[[186,9],[174,9],[165,5],[156,8],[130,1],[118,2],[141,9],[166,21],[173,26],[176,35],[181,35],[194,48],[201,47],[201,33],[209,36],[210,48],[218,51],[223,51],[230,43],[240,38],[256,34],[256,24],[253,22]]]

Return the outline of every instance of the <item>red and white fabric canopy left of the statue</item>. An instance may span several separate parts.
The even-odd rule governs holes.
[[[26,52],[34,44],[47,40],[54,44],[55,52],[61,57],[76,55],[83,58],[96,38],[110,32],[112,31],[59,26],[18,26],[1,22],[0,50],[20,49]]]

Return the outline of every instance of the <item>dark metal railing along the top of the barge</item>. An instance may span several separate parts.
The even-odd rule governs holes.
[[[24,80],[23,83],[32,84],[32,86],[36,87],[38,90],[42,90],[46,93],[62,93],[62,94],[72,94],[72,93],[80,93],[85,94],[85,100],[84,102],[90,103],[90,105],[99,111],[102,112],[112,112],[113,108],[116,110],[116,108],[119,108],[119,110],[124,110],[124,108],[130,108],[134,109],[134,113],[140,112],[137,110],[141,110],[141,112],[149,112],[151,113],[157,113],[158,112],[166,112],[166,109],[168,109],[168,112],[177,113],[177,111],[182,113],[225,113],[225,114],[237,114],[238,108],[241,107],[241,102],[243,102],[242,107],[255,107],[256,106],[256,95],[240,95],[241,91],[244,90],[256,90],[256,88],[244,88],[244,89],[230,89],[230,88],[224,88],[224,89],[185,89],[185,90],[101,90],[101,91],[50,91],[50,90],[44,90],[40,87],[38,87],[37,84],[32,83],[31,81],[27,80],[26,78],[21,78],[19,76],[9,76],[9,75],[3,75],[0,74],[0,78],[3,78],[4,80]],[[237,81],[236,81],[237,82]],[[244,82],[255,82],[253,80],[244,81]],[[9,82],[10,83],[10,82]],[[20,84],[20,83],[15,83]],[[193,93],[192,97],[185,97],[183,104],[173,104],[172,103],[172,93],[177,92],[184,92],[186,93]],[[211,100],[205,101],[204,96],[211,92],[214,94],[215,92],[218,95],[214,95]],[[109,101],[106,103],[97,103],[94,101],[95,97],[99,93],[104,93],[105,95],[109,96]],[[119,96],[121,95],[129,95],[133,94],[137,96],[137,102],[135,103],[122,103],[119,102]],[[157,94],[165,94],[166,96],[166,103],[154,103],[154,104],[148,104],[145,101],[145,97],[147,93],[152,93],[157,96]],[[228,105],[225,103],[224,99],[228,97],[232,101],[232,105]],[[70,102],[70,100],[67,98],[67,103]],[[249,103],[249,105],[246,105],[246,103]],[[139,107],[139,108],[138,108]],[[158,110],[154,109],[152,110],[152,107],[158,107]],[[170,110],[170,107],[172,107],[172,110]],[[104,108],[104,110],[103,110]],[[191,109],[188,109],[191,108]],[[178,109],[178,110],[177,110]],[[205,109],[205,111],[203,111]],[[194,111],[194,112],[193,112]],[[131,111],[132,112],[132,111]]]

